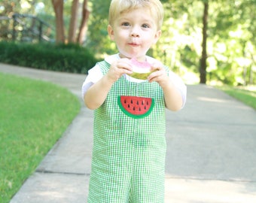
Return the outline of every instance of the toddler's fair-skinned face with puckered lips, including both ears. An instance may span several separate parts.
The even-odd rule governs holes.
[[[108,26],[111,40],[117,44],[120,57],[144,61],[152,44],[160,38],[161,31],[148,9],[139,8],[120,14],[113,26]]]

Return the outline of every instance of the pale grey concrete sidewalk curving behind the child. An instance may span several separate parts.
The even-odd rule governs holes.
[[[0,64],[0,71],[47,80],[81,98],[85,75]],[[86,202],[93,111],[81,112],[11,203]],[[182,111],[166,112],[166,201],[256,202],[256,111],[211,86],[187,86]]]

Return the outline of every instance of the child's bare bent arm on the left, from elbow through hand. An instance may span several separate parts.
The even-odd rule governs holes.
[[[105,74],[98,82],[90,86],[84,94],[84,104],[90,109],[99,108],[105,101],[105,98],[107,97],[114,82],[123,74],[131,73],[132,68],[130,67],[127,59],[119,59],[117,62],[113,62],[108,73]]]

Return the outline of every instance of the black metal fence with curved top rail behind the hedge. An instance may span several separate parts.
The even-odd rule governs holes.
[[[13,14],[0,17],[0,39],[7,41],[54,41],[55,29],[38,17]]]

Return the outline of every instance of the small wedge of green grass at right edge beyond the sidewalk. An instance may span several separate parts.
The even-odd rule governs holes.
[[[245,103],[256,110],[256,86],[249,87],[233,87],[233,86],[218,86],[218,89],[226,92],[233,98]]]

